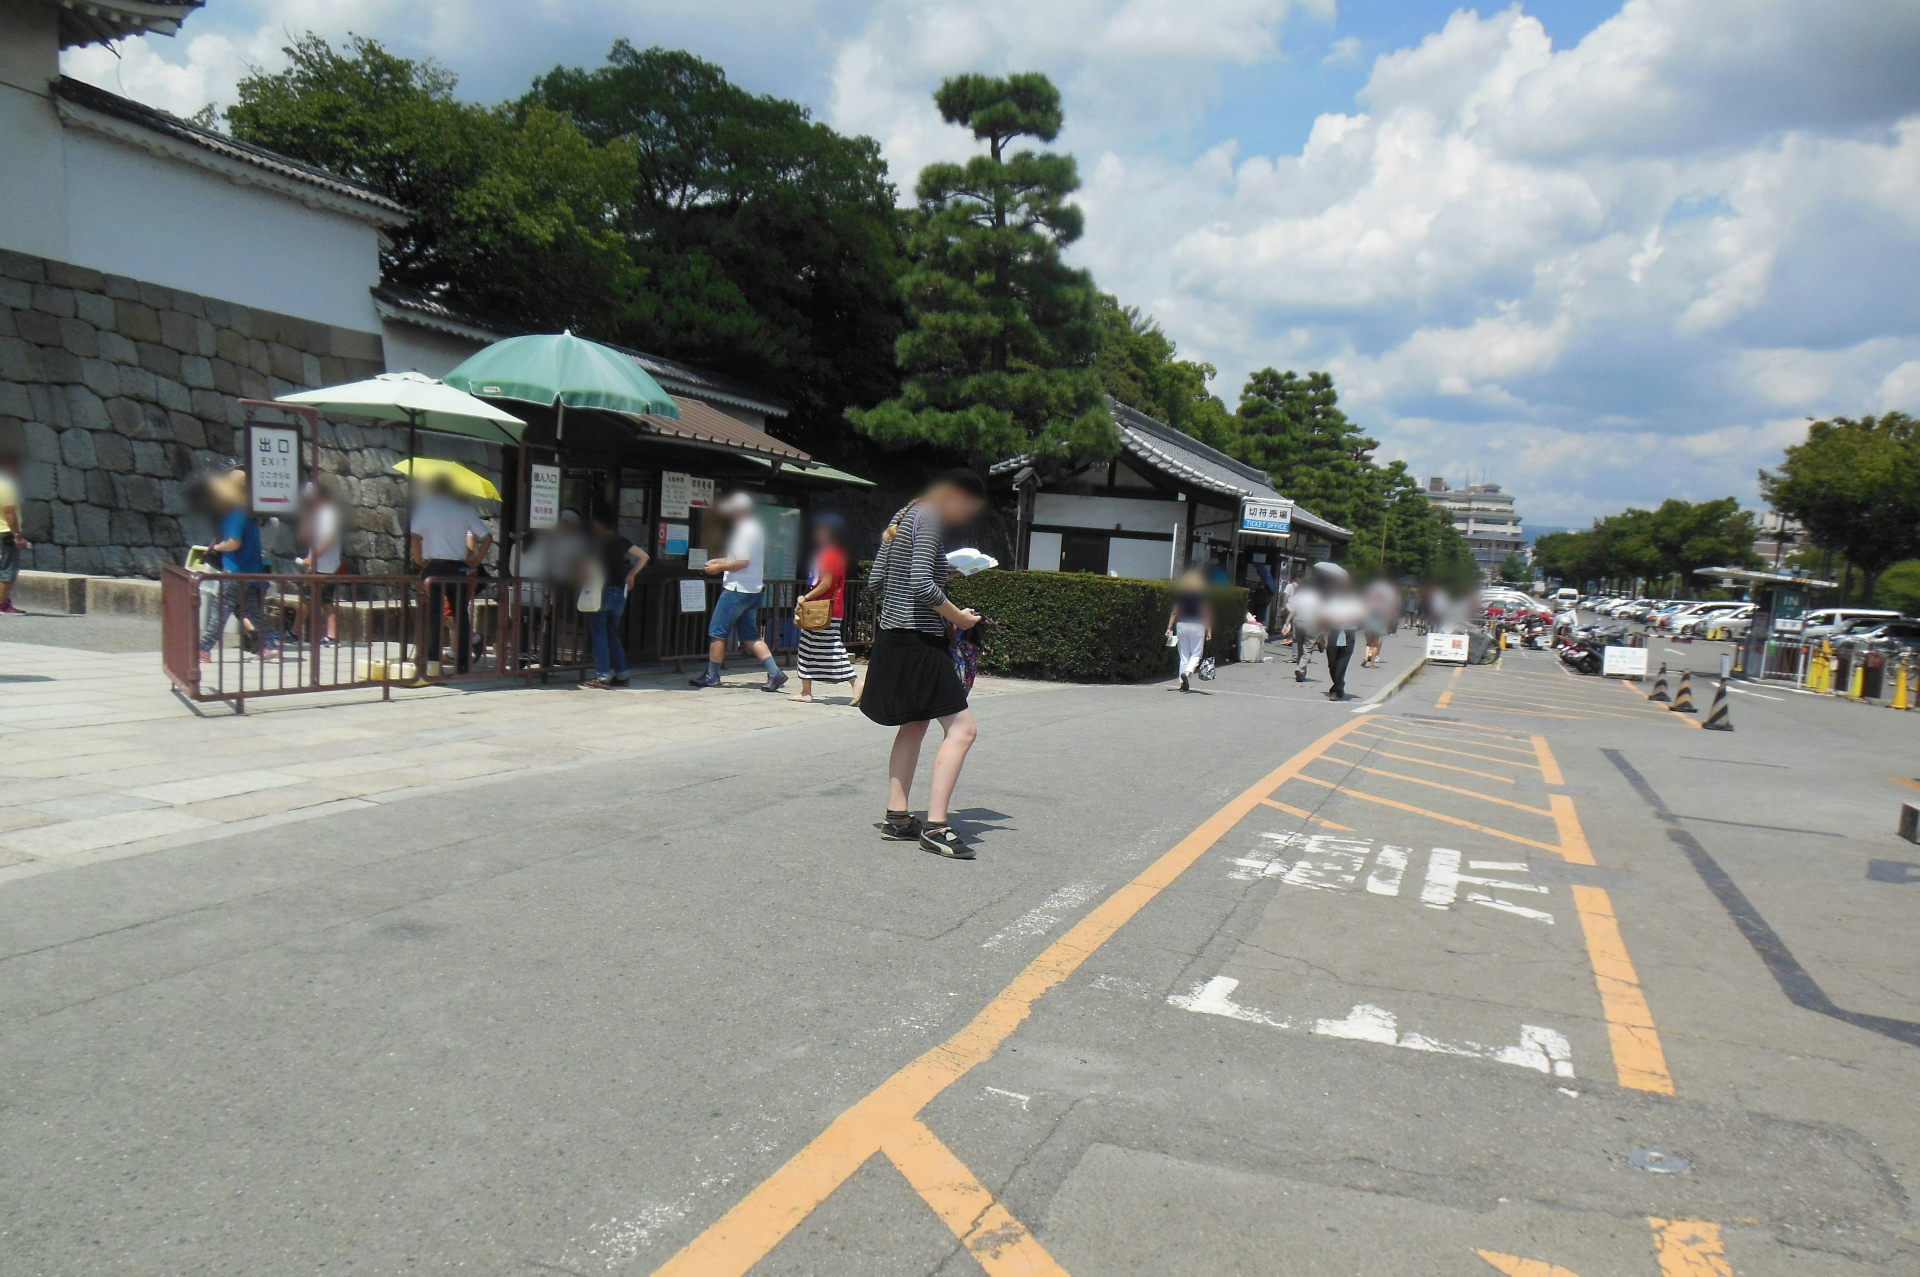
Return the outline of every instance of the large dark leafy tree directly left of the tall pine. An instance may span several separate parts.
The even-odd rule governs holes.
[[[540,77],[518,109],[561,111],[636,156],[622,230],[647,290],[620,338],[783,394],[803,447],[899,388],[904,238],[877,142],[624,38],[605,65]]]

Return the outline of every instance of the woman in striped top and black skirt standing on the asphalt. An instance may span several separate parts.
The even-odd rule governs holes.
[[[966,705],[966,686],[954,670],[947,630],[972,630],[979,613],[947,597],[947,528],[973,522],[987,505],[987,484],[973,470],[948,470],[925,494],[906,505],[879,542],[874,582],[881,588],[879,628],[868,661],[860,712],[893,734],[887,757],[887,820],[881,837],[918,839],[922,851],[954,860],[972,860],[973,849],[947,824],[960,768],[979,728]],[[933,787],[927,820],[922,824],[908,807],[920,743],[927,724],[939,720],[945,739],[933,755]]]

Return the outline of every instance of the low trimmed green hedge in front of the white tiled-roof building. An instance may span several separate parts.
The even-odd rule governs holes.
[[[947,593],[991,622],[981,659],[989,674],[1123,684],[1173,672],[1165,638],[1173,582],[993,570],[954,578]],[[1246,597],[1246,590],[1233,586],[1213,590],[1208,651],[1219,664],[1238,657]]]

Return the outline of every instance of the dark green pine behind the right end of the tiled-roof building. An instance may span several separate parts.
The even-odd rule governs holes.
[[[1332,376],[1261,369],[1246,380],[1236,417],[1240,459],[1279,492],[1356,534],[1379,532],[1386,494],[1373,474],[1377,442],[1340,411]]]

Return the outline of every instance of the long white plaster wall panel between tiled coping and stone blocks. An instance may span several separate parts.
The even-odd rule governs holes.
[[[65,131],[75,265],[378,332],[374,227],[88,129]]]

